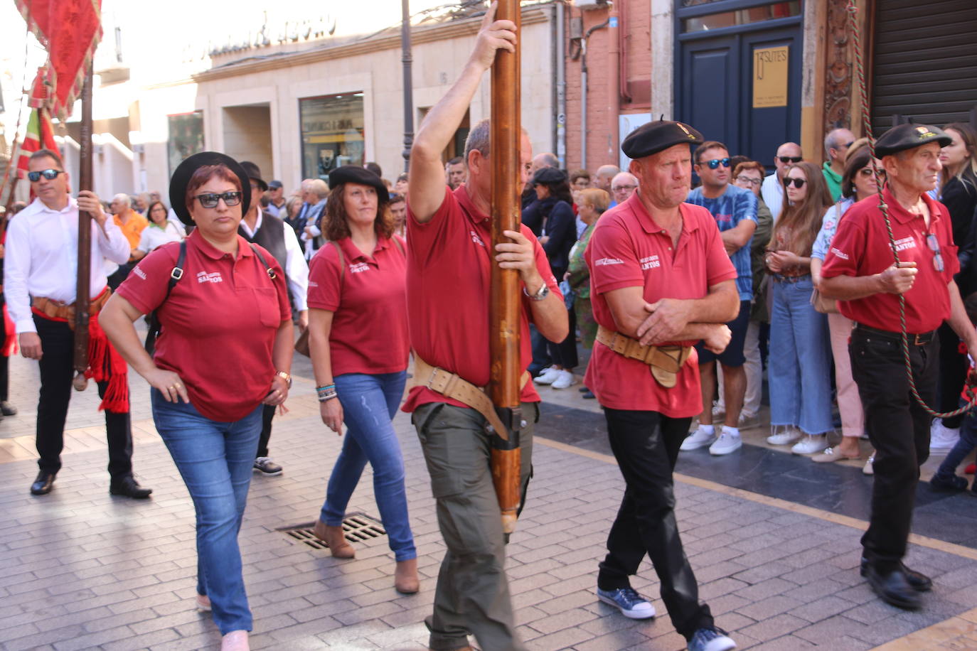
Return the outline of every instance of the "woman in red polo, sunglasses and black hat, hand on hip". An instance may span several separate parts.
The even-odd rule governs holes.
[[[196,605],[213,610],[222,649],[248,648],[251,611],[237,531],[261,434],[262,405],[288,395],[292,321],[284,273],[268,251],[237,234],[247,174],[233,158],[194,154],[170,182],[170,202],[196,228],[182,246],[150,253],[99,320],[151,389],[152,418],[196,509]],[[183,269],[175,284],[174,268]],[[153,358],[133,321],[156,310]],[[228,314],[234,313],[229,319]],[[234,378],[233,383],[228,378]]]

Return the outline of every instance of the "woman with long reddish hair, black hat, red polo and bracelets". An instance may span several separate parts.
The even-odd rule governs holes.
[[[309,349],[322,422],[343,450],[329,477],[314,531],[333,556],[356,551],[343,538],[343,517],[368,461],[373,492],[397,559],[394,586],[418,590],[417,550],[407,518],[404,459],[391,420],[404,396],[407,357],[406,256],[394,235],[390,195],[361,167],[329,174],[323,231],[331,246],[309,267]]]

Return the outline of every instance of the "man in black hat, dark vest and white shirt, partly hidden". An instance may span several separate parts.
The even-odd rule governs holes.
[[[237,232],[248,242],[260,244],[271,253],[285,271],[285,283],[292,306],[298,312],[299,331],[309,327],[309,307],[306,294],[309,291],[309,264],[295,231],[288,224],[276,220],[271,213],[261,209],[261,195],[271,185],[261,178],[261,170],[251,161],[241,161],[251,183],[251,206],[237,226]],[[280,189],[281,184],[278,184]],[[269,205],[271,208],[271,205]],[[265,405],[261,421],[261,438],[258,440],[258,456],[254,469],[263,474],[281,474],[281,466],[269,458],[268,442],[272,438],[272,419],[276,405]]]

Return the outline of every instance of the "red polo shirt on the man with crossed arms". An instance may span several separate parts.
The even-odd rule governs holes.
[[[616,289],[642,287],[648,303],[701,299],[709,287],[736,278],[709,211],[688,203],[679,210],[682,234],[674,251],[668,231],[655,223],[637,192],[601,216],[583,254],[590,268],[590,301],[597,323],[617,329],[605,297]],[[695,343],[677,342],[682,346]],[[647,364],[597,343],[584,384],[604,407],[687,418],[702,411],[698,361],[693,352],[679,371],[675,387],[664,388]]]

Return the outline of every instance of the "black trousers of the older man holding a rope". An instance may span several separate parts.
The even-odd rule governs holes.
[[[936,398],[939,348],[938,340],[926,346],[910,344],[913,381],[930,406]],[[871,517],[862,547],[872,564],[890,571],[906,555],[919,466],[929,458],[930,417],[910,393],[898,339],[856,328],[848,352],[875,448]]]

